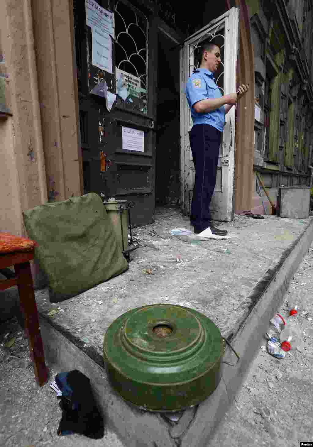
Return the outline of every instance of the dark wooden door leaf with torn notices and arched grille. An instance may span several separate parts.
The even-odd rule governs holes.
[[[86,25],[85,1],[74,1],[84,192],[134,201],[132,225],[142,225],[152,222],[155,206],[152,104],[157,33],[152,14],[127,0],[93,4],[113,14],[114,35],[110,73],[93,65],[95,33]]]

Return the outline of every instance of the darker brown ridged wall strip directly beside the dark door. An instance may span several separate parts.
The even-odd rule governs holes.
[[[83,194],[72,0],[34,0],[33,18],[48,199],[64,200]]]

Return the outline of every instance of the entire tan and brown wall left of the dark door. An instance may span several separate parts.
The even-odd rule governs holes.
[[[72,0],[4,0],[0,14],[0,231],[22,212],[82,194]],[[1,95],[3,96],[3,95]]]

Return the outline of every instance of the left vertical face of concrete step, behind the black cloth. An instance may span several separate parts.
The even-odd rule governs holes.
[[[60,372],[79,369],[89,377],[106,426],[118,434],[125,446],[177,445],[169,435],[169,425],[159,414],[141,412],[127,405],[111,388],[102,366],[53,328],[47,319],[40,316],[39,321],[47,364]]]

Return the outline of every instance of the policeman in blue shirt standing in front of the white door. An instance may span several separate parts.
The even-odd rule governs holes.
[[[195,186],[191,203],[190,223],[199,234],[210,227],[212,234],[225,235],[211,223],[210,203],[216,183],[217,162],[225,114],[247,93],[249,84],[242,84],[237,93],[222,96],[214,72],[219,68],[220,48],[214,43],[201,47],[200,67],[186,84],[186,98],[193,127],[190,147],[195,164]]]

